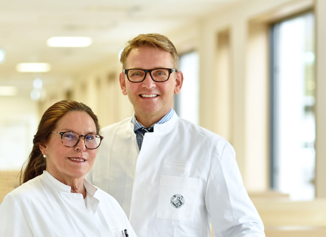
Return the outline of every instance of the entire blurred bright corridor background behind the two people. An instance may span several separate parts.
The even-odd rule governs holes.
[[[326,236],[325,24],[324,0],[0,0],[0,202],[53,103],[132,116],[121,50],[160,33],[184,73],[173,107],[233,145],[266,236]]]

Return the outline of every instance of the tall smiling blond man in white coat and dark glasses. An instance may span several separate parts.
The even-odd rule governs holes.
[[[103,128],[88,179],[122,206],[136,234],[265,236],[232,146],[179,118],[178,54],[162,35],[139,35],[121,54],[120,85],[134,115]]]

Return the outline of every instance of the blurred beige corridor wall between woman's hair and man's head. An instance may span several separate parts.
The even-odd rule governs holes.
[[[133,107],[127,96],[121,93],[119,73],[122,65],[118,52],[103,64],[76,75],[73,98],[89,105],[99,118],[101,126],[131,117]]]

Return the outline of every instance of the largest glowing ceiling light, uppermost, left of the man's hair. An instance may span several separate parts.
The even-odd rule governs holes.
[[[90,37],[50,37],[46,41],[49,47],[88,47],[92,43]]]

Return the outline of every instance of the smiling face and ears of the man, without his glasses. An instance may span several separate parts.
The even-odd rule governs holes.
[[[132,49],[127,57],[126,69],[174,68],[170,52],[155,47]],[[142,82],[130,82],[126,74],[120,74],[122,93],[134,106],[136,118],[142,116],[163,117],[170,111],[174,94],[182,86],[182,72],[172,72],[168,81],[155,82],[149,73]],[[145,97],[151,95],[152,97]]]

